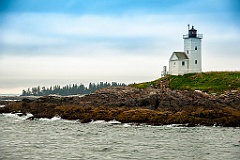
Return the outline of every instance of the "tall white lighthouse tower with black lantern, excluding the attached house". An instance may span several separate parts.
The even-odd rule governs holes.
[[[188,73],[202,72],[202,34],[197,34],[197,30],[192,26],[188,29],[188,34],[183,35],[183,39],[184,52],[189,59]]]

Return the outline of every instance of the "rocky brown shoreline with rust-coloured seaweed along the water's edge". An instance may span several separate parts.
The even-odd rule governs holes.
[[[89,122],[117,120],[152,125],[187,124],[240,127],[240,91],[211,95],[201,91],[110,87],[85,96],[24,98],[0,113],[31,113],[35,118]]]

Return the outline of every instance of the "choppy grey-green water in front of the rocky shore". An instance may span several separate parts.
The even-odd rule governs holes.
[[[0,159],[240,159],[240,128],[81,124],[0,115]]]

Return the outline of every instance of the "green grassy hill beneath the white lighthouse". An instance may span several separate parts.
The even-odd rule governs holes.
[[[207,93],[223,93],[227,90],[240,89],[240,72],[205,72],[185,74],[183,76],[172,76],[157,79],[151,82],[130,84],[136,88],[160,87],[164,83],[171,89],[201,90]]]

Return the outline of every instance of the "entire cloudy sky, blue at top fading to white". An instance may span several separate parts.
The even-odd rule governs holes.
[[[0,0],[0,93],[160,77],[202,39],[203,71],[240,71],[238,0]]]

